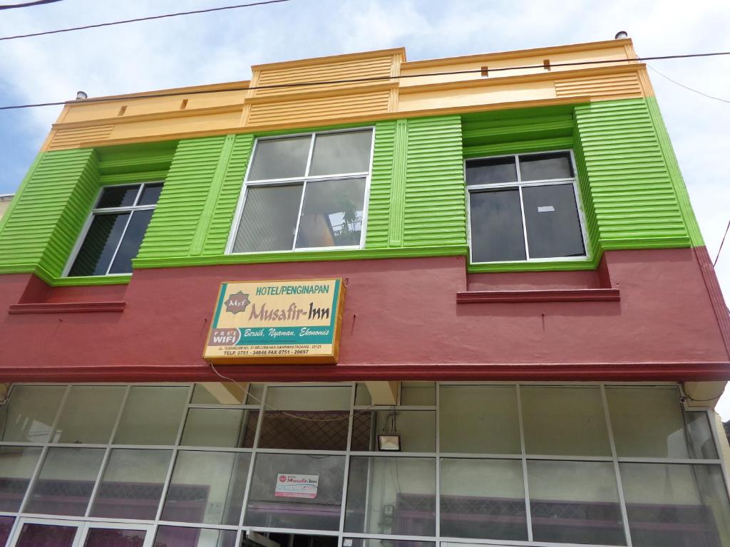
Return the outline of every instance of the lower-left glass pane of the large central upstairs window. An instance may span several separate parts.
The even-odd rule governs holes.
[[[291,251],[301,188],[248,187],[233,252]]]

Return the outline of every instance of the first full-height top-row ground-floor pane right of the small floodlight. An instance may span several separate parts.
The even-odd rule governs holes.
[[[439,389],[442,452],[520,453],[515,387],[442,386]]]

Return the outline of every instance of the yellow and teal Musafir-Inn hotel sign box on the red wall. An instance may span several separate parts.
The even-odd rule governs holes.
[[[215,365],[336,363],[342,279],[220,284],[203,358]]]

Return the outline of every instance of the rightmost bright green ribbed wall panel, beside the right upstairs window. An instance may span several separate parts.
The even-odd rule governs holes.
[[[602,248],[689,246],[646,102],[577,106],[575,123]]]

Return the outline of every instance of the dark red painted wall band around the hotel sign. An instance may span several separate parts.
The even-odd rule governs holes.
[[[135,271],[124,287],[0,276],[0,381],[215,379],[201,359],[218,286],[347,278],[338,365],[219,365],[251,380],[730,379],[693,249],[612,251],[619,302],[457,304],[464,257]],[[29,287],[29,282],[31,287]],[[469,290],[599,287],[596,272],[480,274]],[[24,295],[25,294],[25,295]],[[24,295],[24,296],[23,296]],[[21,301],[125,300],[121,313],[7,314]]]

